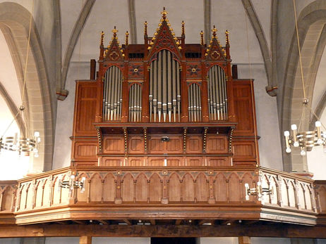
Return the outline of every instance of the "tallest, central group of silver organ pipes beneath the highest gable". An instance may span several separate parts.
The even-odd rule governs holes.
[[[180,66],[167,50],[150,63],[150,121],[180,122]]]

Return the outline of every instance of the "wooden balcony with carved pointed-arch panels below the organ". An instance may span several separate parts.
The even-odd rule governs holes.
[[[85,192],[59,187],[78,172]],[[244,184],[271,186],[246,200]],[[273,182],[273,183],[272,183]],[[278,221],[325,224],[326,182],[262,167],[66,167],[0,181],[0,224]]]

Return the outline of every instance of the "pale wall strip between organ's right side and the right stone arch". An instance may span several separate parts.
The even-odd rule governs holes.
[[[250,71],[251,69],[251,71]],[[255,79],[255,108],[260,155],[260,165],[272,169],[283,170],[282,154],[279,138],[279,121],[277,117],[277,101],[266,93],[267,77],[263,64],[238,65],[239,79],[252,77]]]

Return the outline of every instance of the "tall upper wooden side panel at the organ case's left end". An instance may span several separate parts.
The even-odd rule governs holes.
[[[94,125],[97,101],[95,82],[78,82],[75,105],[74,136],[96,135]]]

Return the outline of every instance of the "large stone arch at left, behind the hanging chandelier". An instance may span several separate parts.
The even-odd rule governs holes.
[[[0,4],[0,29],[4,32],[15,65],[20,87],[26,62],[30,12],[20,4]],[[34,20],[30,35],[28,72],[25,87],[25,113],[30,131],[40,131],[40,157],[33,158],[32,171],[52,169],[54,146],[54,114],[50,94],[49,77],[45,65],[42,44]],[[45,148],[46,147],[46,148]]]

